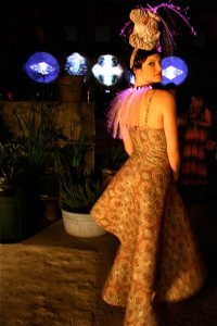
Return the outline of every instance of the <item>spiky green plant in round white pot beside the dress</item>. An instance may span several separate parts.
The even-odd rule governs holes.
[[[102,193],[102,176],[86,170],[87,138],[80,136],[56,153],[56,174],[60,183],[60,206],[67,234],[95,237],[105,234],[90,215],[90,209]]]

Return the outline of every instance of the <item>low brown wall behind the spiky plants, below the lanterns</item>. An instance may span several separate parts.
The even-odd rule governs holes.
[[[88,153],[88,165],[89,167],[94,166],[94,137],[95,137],[95,122],[94,122],[94,104],[87,102],[50,102],[48,103],[54,110],[56,110],[56,125],[61,128],[62,135],[67,138],[67,141],[73,140],[75,137],[80,135],[80,133],[87,133],[90,139],[90,147]],[[29,112],[33,102],[15,102],[15,101],[4,101],[1,106],[1,114],[4,124],[8,126],[9,130],[16,138],[22,136],[22,131],[18,125],[18,121],[15,113],[18,113],[24,121],[28,122]],[[40,105],[40,103],[37,103]],[[76,133],[72,135],[72,129],[76,124]],[[66,141],[66,140],[65,140]],[[64,146],[64,140],[60,140],[58,146]]]

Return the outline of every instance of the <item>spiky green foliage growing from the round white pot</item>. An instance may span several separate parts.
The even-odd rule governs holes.
[[[60,204],[71,212],[88,213],[102,192],[101,174],[86,171],[88,148],[87,136],[81,134],[55,153]]]

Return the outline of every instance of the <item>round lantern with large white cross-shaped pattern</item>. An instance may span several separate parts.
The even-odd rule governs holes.
[[[92,67],[93,76],[104,86],[114,86],[123,76],[124,70],[116,57],[104,54],[99,57]]]

